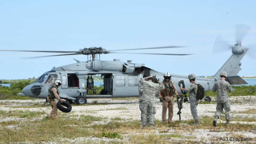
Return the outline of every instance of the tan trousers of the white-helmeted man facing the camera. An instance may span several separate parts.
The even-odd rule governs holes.
[[[165,96],[165,100],[162,103],[162,121],[166,123],[166,113],[168,108],[168,123],[172,123],[173,118],[173,96]]]

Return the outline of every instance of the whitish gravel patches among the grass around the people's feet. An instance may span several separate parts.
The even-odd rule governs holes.
[[[214,100],[214,99],[212,99]],[[95,105],[95,103],[103,104],[103,105]],[[37,100],[0,100],[0,103],[4,103],[0,107],[0,111],[10,111],[13,110],[14,106],[26,106],[26,105],[33,105],[35,103],[39,105],[49,105],[49,103],[45,103],[44,99],[37,99]],[[235,116],[241,116],[241,117],[247,117],[247,118],[254,118],[256,119],[256,114],[247,114],[247,113],[239,113],[241,111],[246,111],[248,109],[256,109],[256,96],[239,96],[239,97],[231,97],[230,98],[231,103],[231,123],[241,123],[241,124],[256,124],[256,121],[247,122],[247,121],[236,121],[233,120],[232,117]],[[92,124],[107,124],[109,121],[111,121],[114,117],[120,117],[124,120],[140,120],[140,111],[139,111],[139,104],[138,100],[116,100],[116,99],[87,99],[87,104],[92,105],[86,105],[86,106],[73,106],[71,113],[68,115],[72,116],[74,114],[76,115],[91,115],[91,116],[102,116],[106,117],[106,119],[102,121],[94,121]],[[155,114],[155,119],[162,120],[162,104],[159,102],[159,99],[156,103],[157,113]],[[50,113],[51,108],[49,107],[39,107],[39,108],[15,108],[16,110],[28,110],[28,111],[45,111],[47,113]],[[107,111],[107,112],[106,112]],[[216,104],[199,104],[197,106],[197,111],[199,117],[203,116],[210,116],[214,119],[214,113],[216,111]],[[60,111],[59,111],[60,112]],[[178,112],[177,103],[174,102],[174,116],[173,121],[178,120],[179,117],[176,115]],[[189,120],[193,119],[190,112],[190,106],[189,103],[183,104],[183,109],[181,110],[181,119],[182,120]],[[36,117],[33,120],[43,119],[46,115],[42,115],[41,117]],[[77,117],[79,119],[79,116]],[[18,117],[7,117],[3,118],[0,117],[0,122],[3,121],[10,121],[10,120],[16,120],[16,121],[27,121],[26,118],[18,118]],[[218,123],[226,123],[226,121],[218,120]],[[183,124],[184,127],[187,127],[187,124]],[[19,129],[16,125],[8,125],[8,128],[10,129]],[[0,129],[1,126],[0,126]],[[158,129],[152,130],[153,133],[162,135],[162,134],[172,134],[177,133],[177,131],[173,127],[167,127],[165,133],[159,133]],[[106,137],[78,137],[74,140],[68,140],[70,143],[83,143],[83,142],[90,142],[90,141],[105,141],[108,143],[109,141],[116,140],[123,143],[129,143],[129,135],[138,135],[141,134],[139,132],[137,133],[129,133],[123,135],[123,139],[109,139]],[[147,133],[145,133],[147,134]],[[180,133],[184,137],[193,137],[194,141],[197,141],[197,143],[218,143],[218,142],[227,142],[227,143],[241,143],[244,141],[236,141],[236,140],[228,140],[228,141],[219,141],[220,137],[232,137],[234,135],[237,136],[244,136],[244,137],[250,137],[253,139],[253,141],[248,141],[248,143],[256,143],[256,130],[253,131],[234,131],[234,132],[225,132],[225,129],[223,131],[215,131],[214,129],[193,129],[191,132],[182,132]],[[234,137],[236,138],[236,137]],[[173,140],[178,140],[181,138],[172,138]],[[170,139],[170,141],[172,141]],[[214,139],[215,141],[211,141]],[[59,141],[61,142],[61,141]],[[42,143],[59,143],[54,141],[49,142],[42,142]],[[28,142],[29,143],[29,142]],[[33,143],[33,142],[31,142]]]

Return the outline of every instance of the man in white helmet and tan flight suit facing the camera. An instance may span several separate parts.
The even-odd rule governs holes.
[[[163,91],[157,91],[159,95],[159,99],[162,102],[162,121],[163,124],[166,124],[166,112],[168,108],[168,123],[172,123],[173,118],[173,97],[174,93],[178,95],[176,91],[176,87],[171,81],[170,73],[165,73],[163,76],[164,80],[162,81],[163,85],[165,85],[165,89]]]

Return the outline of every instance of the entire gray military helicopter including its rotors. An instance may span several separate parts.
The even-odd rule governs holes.
[[[248,84],[244,79],[238,76],[241,70],[241,59],[244,57],[249,48],[243,47],[240,40],[245,36],[237,35],[237,41],[234,45],[229,45],[225,48],[219,48],[217,39],[215,40],[214,51],[232,50],[232,55],[222,65],[222,67],[211,78],[196,77],[197,83],[201,84],[204,89],[211,90],[215,81],[219,80],[219,74],[222,71],[227,73],[226,81],[230,85]],[[161,48],[179,48],[182,46],[167,46],[167,47],[152,47],[139,49],[161,49]],[[64,65],[60,67],[53,67],[50,71],[43,73],[33,83],[27,85],[22,89],[20,96],[29,96],[35,98],[44,98],[48,96],[49,87],[54,84],[56,79],[62,81],[60,89],[60,97],[69,101],[70,103],[86,104],[87,98],[113,98],[113,97],[138,97],[139,80],[144,74],[156,76],[160,81],[163,80],[163,72],[155,71],[146,67],[144,64],[132,63],[132,60],[121,62],[120,59],[113,59],[113,61],[100,60],[101,54],[121,53],[116,51],[136,50],[136,49],[119,49],[107,51],[102,47],[83,48],[79,51],[22,51],[22,50],[0,50],[0,51],[21,51],[21,52],[52,52],[52,53],[66,53],[61,55],[50,56],[65,56],[65,55],[87,55],[87,61],[78,61],[74,64]],[[169,54],[169,53],[137,53],[137,54],[153,54],[153,55],[192,55],[192,54]],[[90,60],[89,60],[90,55]],[[99,55],[99,60],[95,57]],[[38,56],[49,57],[49,56]],[[92,57],[92,59],[91,59]],[[101,75],[103,78],[103,90],[97,93],[94,88],[94,75]],[[185,85],[190,85],[188,76],[171,74],[172,81],[177,88],[178,93],[182,93],[178,88],[179,81],[183,80]],[[93,90],[93,94],[88,91]],[[158,95],[156,91],[156,95]]]

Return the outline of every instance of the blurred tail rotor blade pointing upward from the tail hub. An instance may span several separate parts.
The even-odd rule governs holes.
[[[251,27],[245,24],[237,24],[236,25],[236,43],[239,44],[242,39],[246,36],[246,34],[250,31]]]

